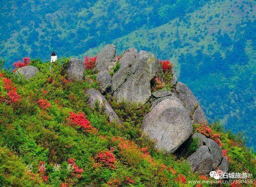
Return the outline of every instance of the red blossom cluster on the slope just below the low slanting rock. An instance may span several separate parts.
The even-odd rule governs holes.
[[[68,119],[73,126],[79,126],[82,129],[84,129],[85,132],[91,132],[92,126],[91,123],[82,112],[79,112],[78,114],[74,112],[69,112],[70,118]]]

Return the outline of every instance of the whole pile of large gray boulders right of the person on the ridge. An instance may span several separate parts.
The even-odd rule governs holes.
[[[190,139],[186,142],[197,138],[200,145],[187,159],[192,165],[192,170],[207,173],[220,165],[223,160],[222,151],[216,142],[200,133],[195,133],[191,137],[193,129],[191,122],[205,123],[206,116],[192,91],[185,84],[177,81],[174,69],[172,69],[172,91],[163,89],[151,93],[152,80],[156,76],[163,75],[160,61],[151,53],[147,51],[138,53],[134,48],[127,49],[120,56],[118,60],[120,68],[110,77],[108,71],[116,65],[115,46],[106,45],[98,54],[94,71],[99,71],[97,81],[101,92],[106,93],[111,86],[110,93],[117,101],[140,103],[139,107],[146,102],[151,104],[152,111],[144,117],[141,130],[156,141],[157,149],[173,153],[188,138]],[[95,100],[100,100],[110,118],[118,119],[120,122],[104,96],[92,89],[86,92],[89,93],[88,104],[94,106]],[[186,152],[186,149],[184,151]]]

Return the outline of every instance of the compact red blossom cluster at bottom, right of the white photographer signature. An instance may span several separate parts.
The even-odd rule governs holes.
[[[94,157],[94,160],[97,163],[97,165],[102,165],[110,169],[115,169],[116,157],[113,154],[113,151],[114,151],[113,148],[110,151],[105,151],[105,152],[100,151]]]

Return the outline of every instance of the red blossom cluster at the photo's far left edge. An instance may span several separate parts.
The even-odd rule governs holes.
[[[17,93],[17,88],[14,87],[11,79],[4,77],[3,73],[0,73],[0,78],[4,83],[4,89],[7,91],[8,103],[17,103],[22,100],[22,97]],[[0,93],[1,95],[1,93]],[[0,100],[3,101],[5,98],[3,96],[0,97]]]

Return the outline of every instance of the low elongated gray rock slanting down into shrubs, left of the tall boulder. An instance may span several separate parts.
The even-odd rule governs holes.
[[[96,102],[98,101],[99,107],[102,107],[106,114],[109,116],[110,122],[115,121],[118,123],[122,123],[116,112],[106,100],[106,98],[99,91],[94,89],[86,89],[84,93],[88,94],[87,103],[90,107],[94,108]]]

